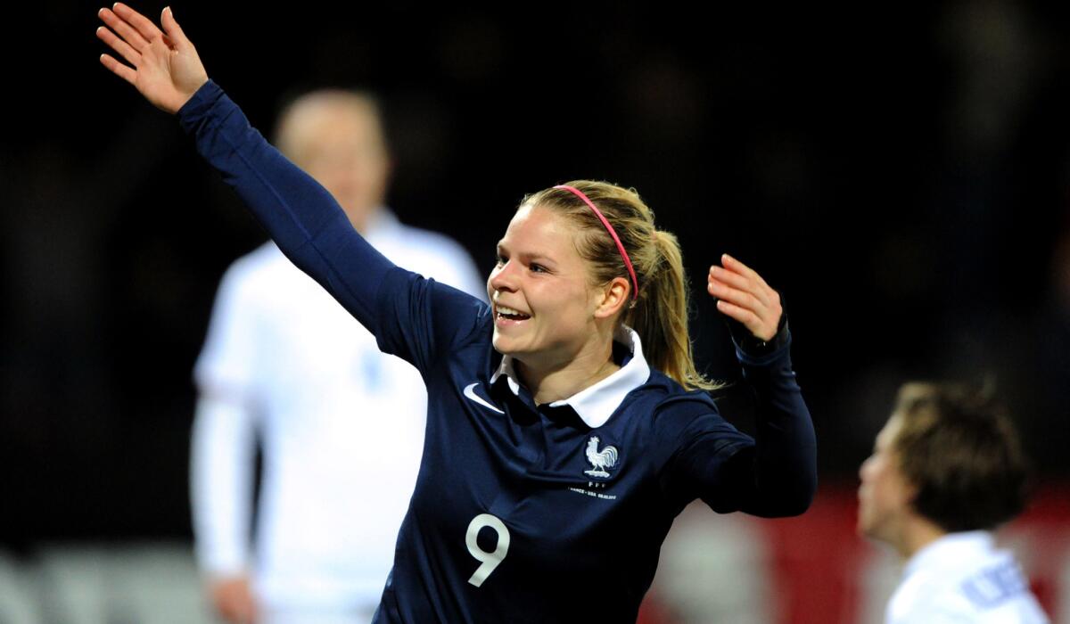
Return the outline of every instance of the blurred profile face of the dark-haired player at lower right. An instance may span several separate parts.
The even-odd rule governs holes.
[[[873,454],[858,470],[858,532],[867,537],[898,545],[903,539],[905,518],[911,513],[914,487],[900,470],[895,451],[902,420],[892,414],[877,433]]]

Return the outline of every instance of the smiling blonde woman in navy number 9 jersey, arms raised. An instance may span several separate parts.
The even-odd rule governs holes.
[[[424,377],[423,462],[377,621],[633,621],[688,502],[810,504],[813,428],[780,299],[742,262],[710,268],[708,291],[746,334],[756,441],[701,392],[679,249],[635,192],[578,181],[526,197],[487,305],[369,246],[208,78],[169,9],[163,31],[122,3],[100,16],[129,63],[104,65],[177,113],[279,248]]]

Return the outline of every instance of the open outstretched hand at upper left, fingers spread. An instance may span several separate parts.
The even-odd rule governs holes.
[[[96,36],[133,67],[110,55],[101,55],[101,63],[136,87],[157,108],[171,115],[178,112],[208,81],[197,49],[174,21],[170,6],[160,16],[163,31],[122,2],[101,9],[97,15],[108,28],[97,28]]]

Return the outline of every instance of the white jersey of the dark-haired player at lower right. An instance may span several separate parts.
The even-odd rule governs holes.
[[[887,624],[1044,624],[1013,554],[988,531],[949,533],[914,553],[885,612]]]

